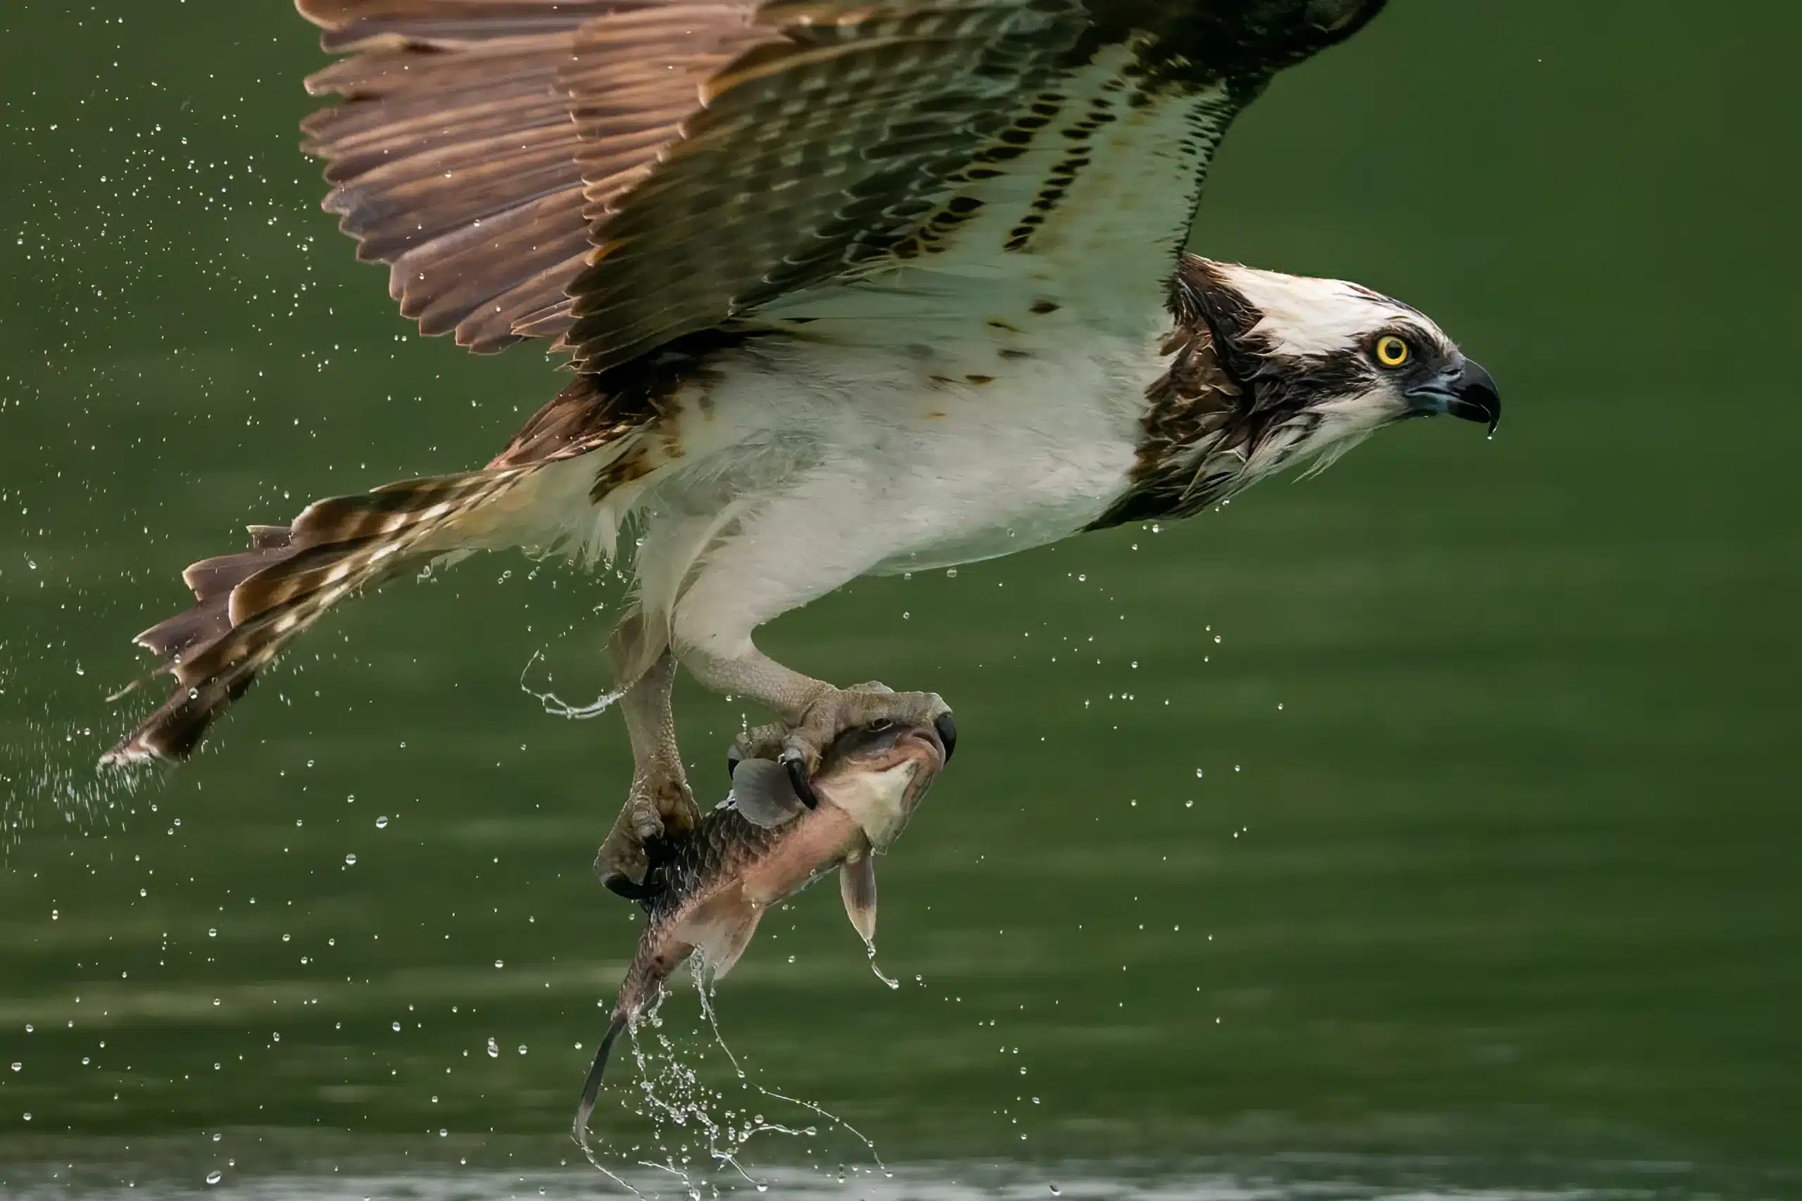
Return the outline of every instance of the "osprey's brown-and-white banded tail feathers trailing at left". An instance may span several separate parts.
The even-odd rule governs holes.
[[[344,597],[517,527],[542,463],[389,483],[308,505],[294,525],[250,527],[250,550],[202,559],[182,579],[195,606],[137,637],[164,656],[173,694],[101,759],[184,759],[301,631]]]

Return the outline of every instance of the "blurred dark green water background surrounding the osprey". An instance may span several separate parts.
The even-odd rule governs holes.
[[[1501,433],[1409,424],[773,626],[815,674],[941,691],[962,750],[883,862],[899,992],[836,889],[723,986],[762,1084],[888,1160],[1802,1192],[1798,40],[1777,0],[1397,0],[1276,83],[1195,249],[1409,299]],[[0,9],[0,1188],[557,1165],[636,934],[589,875],[618,720],[521,687],[602,691],[616,579],[393,586],[182,772],[92,772],[182,564],[478,465],[559,386],[413,337],[353,261],[296,150],[321,61],[278,0]],[[717,799],[741,711],[679,712]],[[721,1075],[692,994],[665,1013]],[[620,1096],[616,1149],[654,1141]]]

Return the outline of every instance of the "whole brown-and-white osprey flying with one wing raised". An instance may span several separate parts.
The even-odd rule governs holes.
[[[324,500],[186,572],[139,635],[177,689],[110,754],[178,759],[337,600],[478,548],[614,554],[634,772],[596,869],[690,831],[681,665],[777,721],[805,801],[930,692],[762,655],[865,573],[1175,518],[1496,384],[1407,305],[1184,252],[1215,146],[1384,0],[299,0],[359,256],[425,334],[575,377],[487,467]]]

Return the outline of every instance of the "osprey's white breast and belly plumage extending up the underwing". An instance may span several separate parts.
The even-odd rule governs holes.
[[[1060,115],[930,252],[757,314],[795,341],[714,364],[681,458],[604,509],[645,518],[642,602],[679,642],[737,655],[762,622],[858,575],[1065,537],[1124,490],[1168,289],[1220,96],[1128,103],[1128,50],[1056,85]],[[1087,137],[1067,137],[1088,121]],[[1049,213],[1054,168],[1087,148]],[[950,198],[950,197],[946,197]],[[1025,247],[1007,249],[1033,213]],[[1049,305],[1047,305],[1049,301]],[[622,512],[587,521],[611,528]]]

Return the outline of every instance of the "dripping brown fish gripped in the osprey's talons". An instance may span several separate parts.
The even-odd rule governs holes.
[[[946,718],[939,725],[879,720],[847,730],[827,748],[805,801],[784,765],[744,759],[732,772],[732,795],[690,837],[651,848],[645,885],[652,894],[640,902],[645,932],[582,1087],[578,1141],[586,1145],[614,1041],[688,956],[699,956],[703,981],[712,985],[739,961],[766,909],[834,867],[851,925],[874,947],[872,858],[901,835],[953,743]]]

